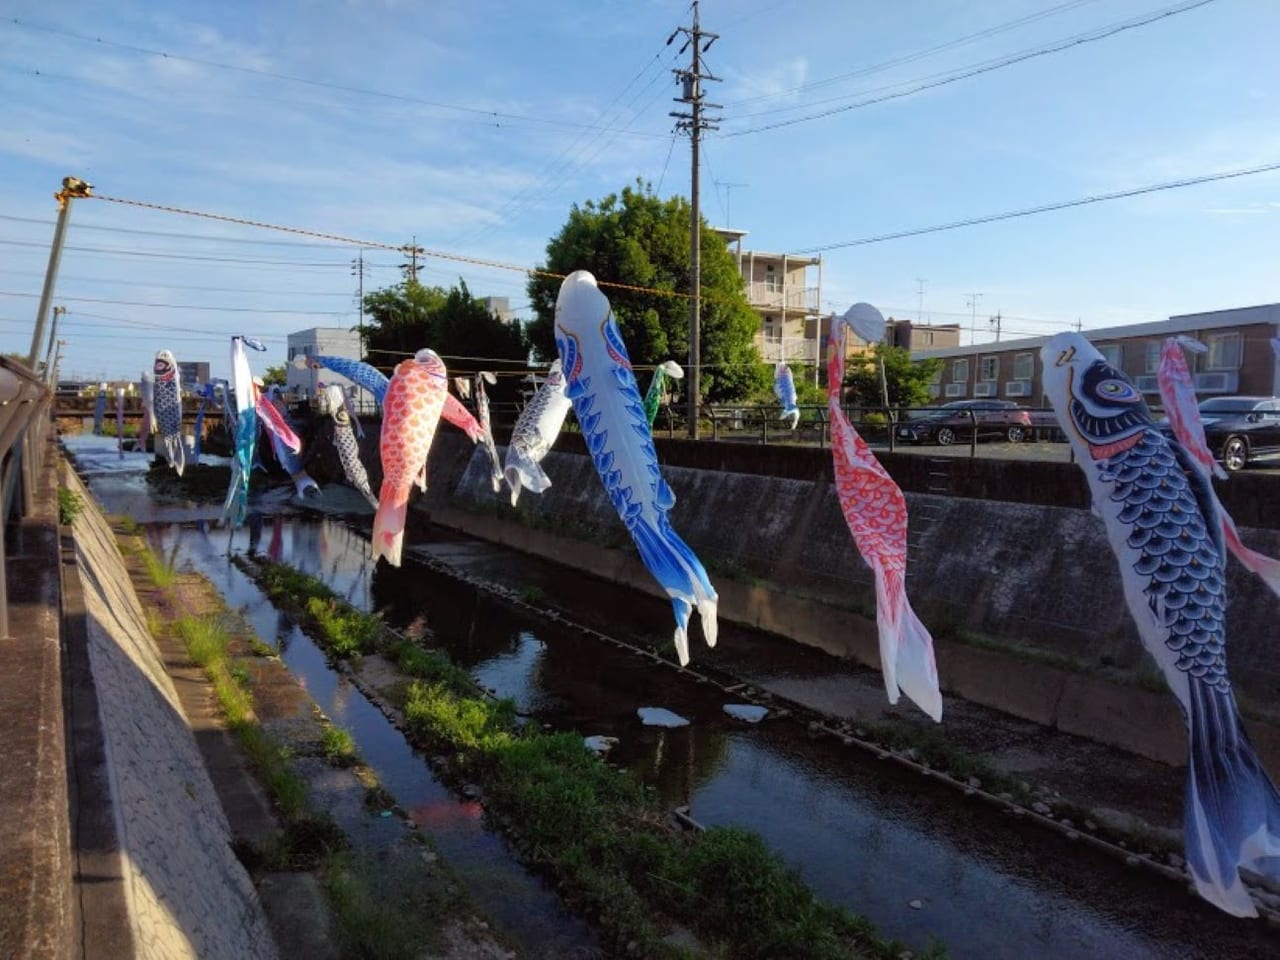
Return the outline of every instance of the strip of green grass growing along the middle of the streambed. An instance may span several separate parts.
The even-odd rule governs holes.
[[[584,749],[581,736],[518,724],[509,700],[483,696],[447,658],[394,639],[376,617],[352,611],[311,577],[278,563],[256,567],[246,566],[278,605],[301,612],[303,626],[334,654],[356,646],[352,636],[364,644],[378,627],[374,649],[415,677],[397,698],[411,739],[449,753],[454,776],[480,785],[486,812],[508,824],[522,855],[598,916],[618,946],[635,941],[645,956],[685,955],[663,938],[675,923],[695,932],[713,956],[844,960],[901,952],[865,920],[818,900],[759,837],[671,831],[652,791]],[[351,617],[365,618],[369,634],[353,630]],[[337,882],[338,896],[355,902],[357,893]]]

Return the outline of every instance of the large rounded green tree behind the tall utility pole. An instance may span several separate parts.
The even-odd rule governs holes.
[[[685,362],[689,355],[690,248],[689,202],[660,200],[636,180],[621,193],[573,205],[567,223],[547,243],[541,270],[570,274],[590,270],[598,280],[644,287],[605,287],[631,362],[654,366]],[[701,227],[701,394],[719,402],[749,397],[769,383],[769,370],[753,343],[759,316],[748,306],[737,265],[723,238]],[[541,360],[556,356],[556,297],[561,282],[532,276],[529,297],[535,319],[529,340]],[[643,385],[641,385],[643,389]]]

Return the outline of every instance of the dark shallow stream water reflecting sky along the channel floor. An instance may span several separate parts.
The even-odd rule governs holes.
[[[110,500],[113,486],[115,481],[104,480],[95,493]],[[106,508],[119,509],[110,502]],[[220,571],[214,582],[243,595],[246,585],[236,586],[238,573],[233,575],[225,550],[247,550],[250,527],[232,532],[209,525],[204,531],[191,525],[164,526],[152,535],[161,549],[177,544],[179,556],[204,557],[200,562],[207,570],[202,572]],[[913,948],[937,938],[955,957],[1280,954],[1280,937],[1266,924],[1234,920],[1166,879],[940,790],[895,764],[835,741],[810,740],[796,723],[732,721],[723,713],[721,691],[675,671],[498,605],[474,588],[411,561],[401,570],[370,568],[367,541],[343,524],[273,518],[264,522],[256,547],[324,577],[356,605],[383,611],[393,626],[430,627],[436,643],[481,682],[540,719],[584,735],[617,736],[621,742],[611,760],[652,783],[669,803],[689,803],[703,823],[758,831],[819,895],[868,916]],[[582,596],[600,586],[595,581],[489,544],[433,531],[410,554],[416,550],[470,575],[536,588],[552,602],[566,594],[564,605],[575,617],[611,621],[618,635],[664,640],[669,631],[666,604],[621,591],[608,595],[602,611]],[[246,600],[232,595],[229,602]],[[352,707],[362,701],[358,691],[339,692],[338,677],[303,662],[307,657],[323,660],[310,641],[265,604],[259,603],[252,616],[262,618],[264,639],[288,637],[283,645],[287,662],[297,664],[296,672],[321,709],[352,730],[362,753],[362,737],[387,739],[385,732],[365,730],[366,723],[385,730],[385,721],[380,714],[364,716],[365,708],[374,710],[367,701],[365,708]],[[314,653],[293,653],[308,646]],[[695,660],[737,669],[755,682],[791,684],[794,694],[808,691],[828,701],[842,695],[829,677],[851,669],[831,660],[824,680],[812,664],[796,668],[794,645],[731,625],[722,626],[714,653],[701,648],[698,637],[694,648]],[[635,716],[643,705],[666,707],[692,723],[681,730],[646,728]],[[397,771],[421,767],[421,760],[403,741],[385,749],[390,759],[384,760],[385,776],[379,773],[401,797]],[[440,804],[448,810],[445,820],[466,819],[457,813],[458,801],[438,783],[415,781],[404,788],[410,796],[424,797],[424,812]],[[485,842],[500,846],[497,837]],[[460,858],[443,845],[440,850],[465,869],[465,845]]]

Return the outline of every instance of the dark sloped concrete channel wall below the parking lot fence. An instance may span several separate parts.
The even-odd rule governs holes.
[[[658,595],[608,503],[594,466],[562,438],[544,467],[553,486],[524,493],[515,509],[494,495],[484,453],[461,436],[436,436],[431,489],[420,500],[433,520]],[[580,442],[579,442],[580,443]],[[685,449],[681,449],[685,447]],[[666,442],[664,475],[676,492],[675,527],[707,563],[721,616],[879,666],[870,572],[845,526],[818,451]],[[717,449],[719,448],[719,449]],[[799,456],[790,456],[790,454]],[[756,466],[739,471],[736,458]],[[698,468],[672,461],[701,460]],[[918,457],[899,457],[916,460]],[[1166,763],[1185,755],[1171,696],[1153,680],[1124,603],[1101,521],[1082,507],[1016,502],[1052,483],[1071,489],[1074,465],[1047,466],[1056,481],[1019,465],[1010,499],[908,493],[911,513],[908,591],[936,637],[943,689],[1066,732]],[[919,463],[899,470],[910,474]],[[960,471],[956,471],[960,474]],[[977,480],[997,483],[983,465]],[[799,475],[797,475],[799,474]],[[808,476],[805,476],[808,474]],[[1083,484],[1083,477],[1082,477]],[[1280,532],[1242,529],[1244,540],[1280,554]],[[1231,675],[1261,710],[1280,708],[1274,635],[1276,598],[1231,563]],[[975,643],[975,636],[978,643]],[[1263,759],[1280,765],[1280,732],[1252,722]]]

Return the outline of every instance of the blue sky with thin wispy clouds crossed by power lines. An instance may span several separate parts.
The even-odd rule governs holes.
[[[1174,5],[705,0],[703,27],[721,35],[705,61],[723,78],[709,99],[724,109],[705,141],[704,214],[749,230],[748,247],[791,252],[1280,161],[1275,0],[1213,0],[750,132]],[[687,23],[687,0],[9,0],[0,351],[29,346],[51,193],[67,174],[106,196],[383,243],[416,237],[512,268],[540,261],[572,204],[636,177],[687,195],[689,142],[673,141],[668,116],[671,68],[687,55],[664,45]],[[831,250],[823,307],[864,300],[914,317],[923,278],[924,317],[963,321],[965,342],[970,292],[982,293],[979,340],[997,310],[1006,337],[1157,320],[1280,300],[1277,241],[1280,173],[1266,173]],[[283,360],[291,330],[356,323],[352,247],[101,201],[77,202],[68,247],[55,298],[68,307],[64,376],[136,376],[161,347],[225,372],[234,333],[266,339],[260,370]],[[397,253],[366,256],[367,285],[399,278]],[[462,276],[529,316],[516,269],[425,265],[428,283]]]

